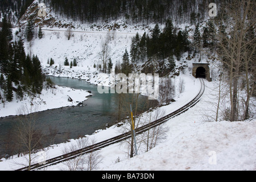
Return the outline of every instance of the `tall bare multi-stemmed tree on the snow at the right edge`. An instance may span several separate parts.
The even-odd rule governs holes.
[[[255,80],[251,80],[255,71],[255,1],[232,1],[225,7],[225,14],[216,19],[219,26],[216,31],[218,60],[229,73],[230,121],[241,118],[238,114],[238,91],[240,77],[246,80],[247,98],[245,100],[246,119],[251,93],[255,88]],[[247,38],[251,32],[253,36]]]

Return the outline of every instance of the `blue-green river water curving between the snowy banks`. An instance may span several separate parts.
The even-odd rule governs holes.
[[[119,94],[100,94],[97,92],[97,85],[89,84],[84,80],[64,77],[50,78],[56,85],[90,90],[92,96],[83,102],[83,106],[62,107],[36,113],[38,127],[44,135],[43,147],[90,135],[98,129],[105,129],[106,123],[109,126],[117,123]],[[129,96],[123,103],[125,103],[124,107],[129,108],[133,94],[127,95]],[[150,106],[146,106],[147,101],[150,102]],[[147,100],[147,97],[139,95],[138,112],[146,111],[149,107],[156,105],[157,101]],[[123,108],[123,110],[126,109]],[[122,117],[128,114],[129,112],[123,111]],[[11,142],[15,137],[15,123],[17,123],[17,117],[0,118],[0,157],[4,154],[15,154],[15,150],[11,147]]]

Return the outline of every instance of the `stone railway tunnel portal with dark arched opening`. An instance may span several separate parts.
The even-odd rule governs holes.
[[[193,63],[192,75],[196,78],[205,78],[208,81],[212,81],[208,63]]]

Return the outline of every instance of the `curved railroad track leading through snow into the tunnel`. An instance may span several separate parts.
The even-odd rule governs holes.
[[[200,82],[201,82],[201,88],[200,88],[200,92],[197,94],[197,96],[195,98],[193,98],[193,100],[191,100],[190,102],[188,102],[188,104],[180,107],[179,109],[175,110],[174,112],[172,112],[171,114],[168,114],[160,119],[155,120],[154,122],[148,123],[147,125],[138,127],[135,130],[135,134],[141,134],[145,131],[147,131],[148,129],[151,129],[153,127],[156,127],[158,125],[163,124],[164,122],[168,121],[170,118],[175,117],[176,115],[179,115],[181,113],[184,113],[185,111],[187,111],[189,108],[191,108],[192,106],[196,105],[197,102],[200,101],[201,97],[203,96],[204,90],[205,90],[205,84],[204,84],[204,80],[203,78],[200,78]],[[110,146],[111,144],[114,143],[118,143],[121,142],[122,140],[128,139],[131,137],[131,133],[127,132],[121,135],[118,135],[117,137],[113,137],[107,140],[104,140],[102,142],[93,144],[92,146],[88,146],[85,148],[81,148],[80,150],[76,150],[73,152],[69,152],[68,154],[64,154],[64,155],[60,155],[57,156],[55,158],[52,159],[48,159],[43,163],[36,163],[36,164],[32,164],[30,166],[30,170],[37,170],[37,169],[42,169],[48,166],[52,166],[70,159],[74,159],[77,156],[92,152],[92,151],[97,151],[97,150],[101,150],[101,148],[104,148],[106,146]],[[16,171],[27,171],[28,167],[23,167],[20,169],[17,169]]]

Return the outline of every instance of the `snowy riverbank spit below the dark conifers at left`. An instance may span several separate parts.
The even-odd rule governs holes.
[[[44,88],[42,94],[36,97],[25,96],[22,101],[14,96],[12,102],[6,102],[5,107],[1,103],[0,117],[7,117],[10,115],[28,114],[19,113],[22,107],[27,109],[32,108],[34,112],[44,111],[48,109],[56,109],[67,106],[77,106],[80,102],[87,100],[91,96],[86,90],[73,89],[65,86],[55,85],[55,88]]]

